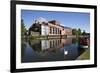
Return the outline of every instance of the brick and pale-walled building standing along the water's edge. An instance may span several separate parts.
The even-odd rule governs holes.
[[[62,26],[56,20],[47,21],[40,17],[29,28],[31,36],[46,36],[46,35],[72,35],[72,29]]]

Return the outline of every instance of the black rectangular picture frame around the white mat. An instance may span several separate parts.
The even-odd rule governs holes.
[[[26,68],[16,69],[16,5],[43,5],[43,6],[57,6],[57,7],[74,7],[94,9],[94,64],[89,65],[74,65],[74,66],[59,66],[59,67],[45,67],[45,68]],[[11,30],[10,30],[10,68],[11,72],[27,72],[27,71],[44,71],[44,70],[58,70],[58,69],[77,69],[97,67],[97,6],[93,5],[78,5],[78,4],[61,4],[61,3],[46,3],[46,2],[31,2],[31,1],[11,1]]]

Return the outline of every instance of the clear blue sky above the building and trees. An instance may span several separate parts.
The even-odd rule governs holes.
[[[27,29],[39,17],[43,17],[47,21],[57,20],[63,26],[76,29],[80,28],[82,31],[90,32],[90,13],[21,10],[21,19],[24,20]]]

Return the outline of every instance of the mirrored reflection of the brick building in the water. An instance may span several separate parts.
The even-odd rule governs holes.
[[[30,40],[29,45],[35,51],[50,51],[51,49],[60,49],[65,45],[72,44],[72,39],[50,39],[50,40]]]

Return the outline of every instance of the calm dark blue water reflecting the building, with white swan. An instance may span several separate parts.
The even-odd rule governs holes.
[[[82,48],[81,46],[84,45],[80,44],[80,39],[76,38],[23,40],[21,48],[21,61],[22,63],[26,63],[77,60],[78,57],[81,57],[81,55],[89,49]],[[89,45],[86,46],[89,47]],[[88,54],[90,53],[88,52]],[[83,57],[85,59],[87,55]]]

